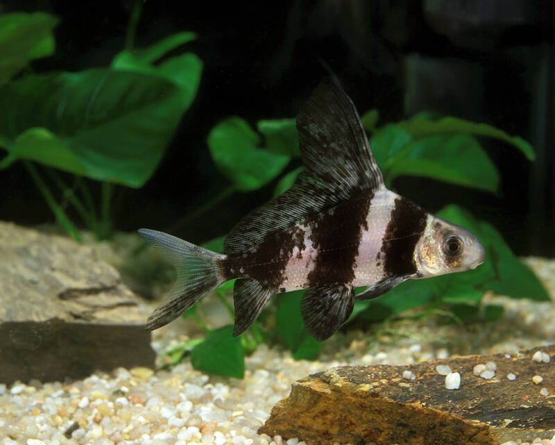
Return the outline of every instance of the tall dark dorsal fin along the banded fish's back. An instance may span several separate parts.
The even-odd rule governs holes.
[[[225,253],[243,253],[270,233],[384,187],[355,105],[337,81],[327,78],[311,94],[297,130],[305,171],[287,192],[239,221],[225,238]]]

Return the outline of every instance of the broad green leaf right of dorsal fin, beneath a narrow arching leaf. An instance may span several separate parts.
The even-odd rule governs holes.
[[[403,150],[402,157],[393,156],[386,162],[384,174],[390,182],[397,176],[410,175],[489,192],[495,192],[499,186],[495,165],[477,140],[468,135],[436,135],[416,140]]]

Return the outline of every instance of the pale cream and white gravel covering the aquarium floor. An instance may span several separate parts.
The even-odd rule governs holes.
[[[555,262],[527,262],[555,296]],[[291,383],[309,373],[341,364],[410,364],[454,354],[514,353],[553,342],[553,303],[493,295],[486,300],[504,305],[502,319],[459,326],[428,317],[368,333],[339,333],[326,342],[318,362],[297,362],[288,351],[259,346],[246,358],[243,380],[207,376],[185,360],[170,371],[120,368],[85,380],[0,385],[1,444],[282,445],[286,442],[281,437],[257,435],[256,430],[273,405],[289,394]],[[178,322],[156,331],[155,349],[162,353],[187,339],[184,326]],[[555,438],[541,439],[555,445]]]

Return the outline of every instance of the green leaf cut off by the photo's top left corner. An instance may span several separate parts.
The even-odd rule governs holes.
[[[53,28],[58,19],[44,12],[0,15],[0,85],[35,58],[54,52]]]

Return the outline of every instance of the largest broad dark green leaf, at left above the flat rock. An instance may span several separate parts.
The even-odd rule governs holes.
[[[27,76],[0,88],[0,109],[10,110],[0,114],[0,139],[19,158],[141,187],[185,108],[182,90],[160,76],[112,69]],[[18,137],[26,144],[16,146]],[[28,143],[37,140],[46,147]]]

